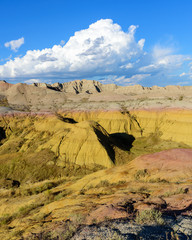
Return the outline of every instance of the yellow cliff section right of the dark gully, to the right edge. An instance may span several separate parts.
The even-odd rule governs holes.
[[[182,109],[132,111],[136,116],[143,135],[161,132],[161,138],[183,142],[192,146],[192,111]]]

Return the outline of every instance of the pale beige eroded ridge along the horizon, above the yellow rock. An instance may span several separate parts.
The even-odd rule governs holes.
[[[9,111],[119,110],[122,103],[129,109],[147,106],[191,109],[191,91],[191,86],[122,87],[93,80],[32,85],[0,81],[0,99],[6,99],[7,107],[10,107]]]

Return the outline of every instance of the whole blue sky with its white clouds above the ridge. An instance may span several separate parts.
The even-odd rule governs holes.
[[[0,0],[0,79],[192,85],[191,0]]]

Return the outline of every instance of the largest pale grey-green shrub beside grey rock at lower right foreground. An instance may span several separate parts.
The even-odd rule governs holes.
[[[135,221],[137,224],[164,224],[161,212],[153,209],[138,212]]]

